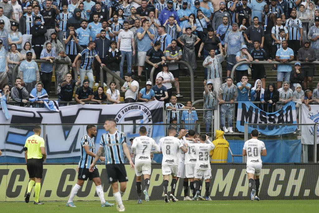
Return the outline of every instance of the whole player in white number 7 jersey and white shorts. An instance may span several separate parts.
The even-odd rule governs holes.
[[[131,146],[132,153],[135,155],[135,174],[136,174],[136,190],[138,195],[137,204],[142,203],[142,174],[144,175],[145,189],[143,191],[145,195],[145,201],[150,201],[148,196],[148,187],[150,186],[151,175],[151,150],[155,148],[155,152],[160,152],[159,146],[156,142],[146,136],[147,130],[145,126],[141,126],[139,130],[140,137],[134,138]]]

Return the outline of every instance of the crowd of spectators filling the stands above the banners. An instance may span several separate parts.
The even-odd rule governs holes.
[[[177,116],[177,123],[196,122],[191,105],[180,106],[177,98],[183,97],[179,71],[184,69],[187,76],[192,73],[196,77],[197,57],[204,61],[205,67],[204,108],[221,105],[221,126],[225,132],[233,132],[233,117],[226,115],[233,114],[234,101],[248,101],[249,94],[250,100],[260,101],[258,106],[268,112],[282,106],[275,107],[278,101],[307,105],[317,101],[317,91],[309,95],[313,90],[314,65],[297,62],[292,68],[286,63],[319,60],[318,3],[300,0],[3,0],[0,3],[0,88],[8,85],[11,98],[20,106],[25,106],[32,91],[35,95],[52,92],[55,68],[54,92],[60,102],[71,101],[75,87],[74,100],[82,105],[87,101],[120,103],[123,91],[126,103],[164,101],[168,109],[189,109],[184,111],[188,114],[184,120],[182,112]],[[39,68],[34,59],[48,63],[41,63]],[[53,64],[54,60],[64,64]],[[183,64],[165,63],[166,60],[186,61],[191,70]],[[223,60],[226,76],[222,75]],[[273,65],[277,71],[276,86],[266,85],[263,64],[242,64],[236,67],[235,79],[229,77],[236,63],[262,60],[280,62]],[[76,69],[79,79],[70,73],[68,64]],[[16,65],[19,69],[13,79]],[[93,86],[99,85],[103,66],[114,75],[104,73],[102,86],[93,91]],[[150,79],[152,68],[155,70]],[[148,81],[140,88],[144,70]],[[125,83],[120,85],[114,76],[125,79]],[[248,83],[249,77],[255,82],[254,87]],[[173,85],[176,94],[172,93]],[[204,122],[209,132],[209,110],[204,114]]]

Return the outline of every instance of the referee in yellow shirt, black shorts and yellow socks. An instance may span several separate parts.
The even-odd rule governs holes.
[[[26,139],[24,145],[26,168],[29,173],[30,181],[28,184],[28,191],[26,193],[26,203],[29,202],[31,190],[34,186],[35,199],[33,204],[44,204],[39,201],[41,190],[41,179],[43,173],[43,161],[46,159],[47,154],[44,148],[44,139],[40,137],[41,126],[35,125],[33,129],[34,135]]]

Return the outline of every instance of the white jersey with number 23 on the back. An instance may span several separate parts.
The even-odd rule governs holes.
[[[198,170],[210,170],[211,163],[209,162],[209,153],[215,148],[214,144],[188,144],[190,148],[193,148],[196,152],[196,164],[195,169]]]

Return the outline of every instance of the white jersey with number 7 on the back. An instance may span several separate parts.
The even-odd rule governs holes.
[[[159,146],[150,137],[140,136],[140,137],[134,138],[131,149],[132,149],[132,152],[134,152],[135,150],[135,153],[136,153],[135,162],[137,161],[151,162],[151,150],[153,147],[157,151],[159,151]]]

